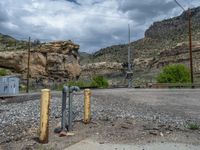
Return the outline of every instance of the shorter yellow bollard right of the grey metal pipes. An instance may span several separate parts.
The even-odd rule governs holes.
[[[91,119],[90,98],[91,98],[91,90],[85,89],[84,90],[84,119],[83,119],[83,122],[85,124],[89,123]]]

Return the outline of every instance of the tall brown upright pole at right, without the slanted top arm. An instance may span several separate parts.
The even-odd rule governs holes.
[[[189,51],[190,51],[190,76],[191,83],[193,84],[193,57],[192,57],[192,31],[191,31],[191,10],[188,9],[188,30],[189,30]]]

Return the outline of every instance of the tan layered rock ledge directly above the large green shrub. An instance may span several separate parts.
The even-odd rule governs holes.
[[[195,41],[192,46],[193,54],[193,71],[195,80],[200,79],[200,43]],[[160,70],[168,64],[185,64],[190,68],[188,42],[178,43],[174,48],[162,50],[155,57],[136,58],[134,59],[134,72],[137,77],[146,79],[155,79]]]

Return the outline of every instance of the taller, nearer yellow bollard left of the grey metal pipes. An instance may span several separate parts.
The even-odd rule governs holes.
[[[48,143],[49,139],[49,106],[50,106],[50,90],[41,90],[41,101],[40,101],[40,132],[39,142]]]

